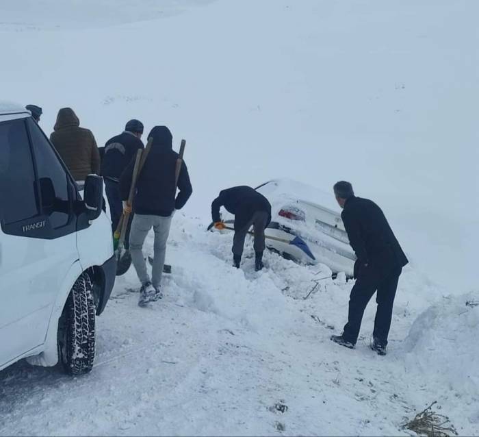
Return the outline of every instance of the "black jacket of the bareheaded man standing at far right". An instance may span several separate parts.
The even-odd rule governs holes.
[[[359,264],[373,269],[402,267],[408,263],[383,211],[368,199],[350,197],[341,213],[350,245]]]

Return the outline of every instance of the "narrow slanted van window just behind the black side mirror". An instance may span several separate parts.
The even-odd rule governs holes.
[[[35,155],[42,214],[49,216],[53,229],[66,226],[70,218],[68,176],[40,127],[27,118],[31,146]]]

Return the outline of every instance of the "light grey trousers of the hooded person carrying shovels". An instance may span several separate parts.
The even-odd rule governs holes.
[[[155,244],[153,246],[155,254],[151,271],[151,284],[155,288],[161,285],[161,274],[165,265],[166,241],[168,240],[168,234],[170,234],[171,219],[172,216],[161,217],[143,214],[135,214],[133,217],[130,231],[130,253],[136,274],[142,284],[150,282],[142,249],[144,239],[153,227],[155,232]]]

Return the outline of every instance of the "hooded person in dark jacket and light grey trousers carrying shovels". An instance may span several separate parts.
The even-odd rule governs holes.
[[[175,184],[175,170],[179,155],[172,150],[170,129],[166,126],[155,126],[148,134],[149,138],[152,138],[151,150],[136,183],[133,199],[135,216],[131,223],[129,238],[131,259],[142,284],[138,301],[140,306],[163,297],[161,273],[165,264],[166,241],[170,233],[172,216],[174,210],[183,208],[193,192],[184,161],[181,164],[178,182]],[[133,159],[120,177],[120,195],[124,201],[125,212],[131,212],[126,200],[131,187],[134,164]],[[179,193],[176,196],[177,187]],[[155,232],[155,253],[150,279],[142,249],[146,235],[152,227]]]

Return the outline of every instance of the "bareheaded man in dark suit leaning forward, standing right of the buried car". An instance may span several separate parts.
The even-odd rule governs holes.
[[[354,348],[366,305],[377,291],[378,308],[371,347],[379,355],[385,355],[396,288],[402,267],[408,260],[376,203],[355,197],[349,182],[337,182],[334,192],[339,206],[343,208],[341,218],[357,260],[354,264],[356,284],[351,290],[348,323],[344,326],[343,334],[331,336],[331,340]]]

